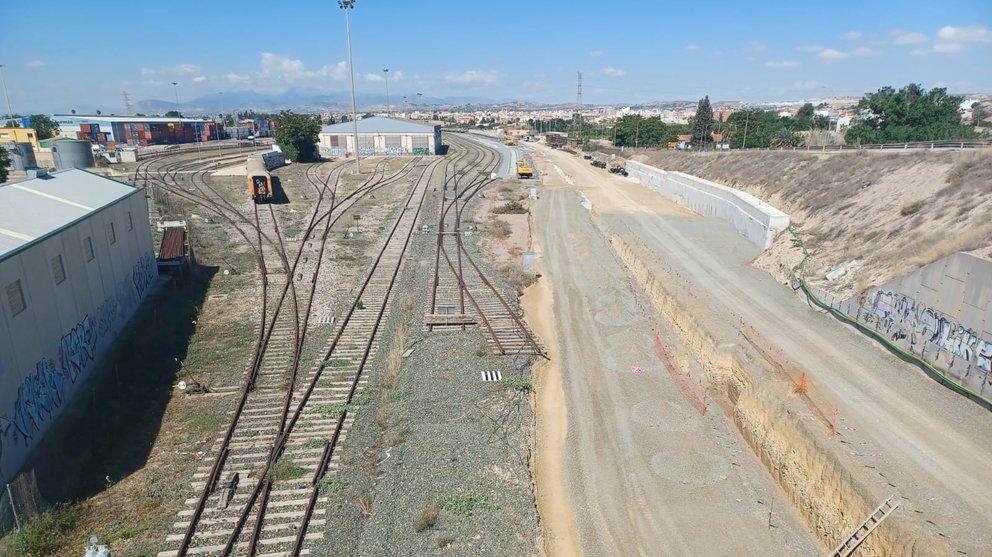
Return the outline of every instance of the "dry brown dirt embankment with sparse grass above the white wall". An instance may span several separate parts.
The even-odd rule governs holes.
[[[636,155],[664,170],[739,188],[787,212],[805,234],[808,276],[848,297],[957,251],[992,259],[992,151],[806,151]],[[755,264],[781,280],[801,260],[781,235]],[[842,278],[824,273],[856,260]]]

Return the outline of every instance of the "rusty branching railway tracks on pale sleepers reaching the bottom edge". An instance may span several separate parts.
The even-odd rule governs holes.
[[[442,159],[413,159],[387,176],[385,162],[354,191],[340,192],[342,165],[307,169],[316,192],[298,249],[283,238],[271,205],[238,203],[210,184],[208,171],[226,158],[159,161],[146,180],[226,219],[259,261],[263,306],[254,355],[237,390],[238,401],[222,438],[195,474],[199,496],[179,513],[159,555],[303,555],[322,526],[320,487],[333,472],[334,448],[343,441],[363,370],[377,346],[380,323],[402,255],[428,185]],[[199,165],[199,166],[197,166]],[[197,168],[197,170],[191,170]],[[321,169],[329,172],[321,176]],[[136,172],[136,175],[138,173]],[[378,188],[415,180],[364,284],[320,365],[301,372],[300,358],[328,236],[344,212]],[[247,205],[253,205],[248,208]],[[325,373],[326,368],[333,368]],[[235,476],[236,475],[236,476]],[[320,530],[322,530],[321,528]]]

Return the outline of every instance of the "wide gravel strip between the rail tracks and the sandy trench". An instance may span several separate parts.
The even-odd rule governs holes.
[[[608,189],[629,182],[586,176],[568,161],[557,163],[588,195],[594,212],[614,210],[619,203],[653,214]],[[699,415],[673,385],[652,349],[658,323],[649,302],[580,206],[581,197],[562,191],[570,187],[554,168],[542,170],[546,189],[535,209],[535,226],[547,272],[542,282],[549,281],[555,295],[553,308],[544,312],[550,309],[554,316],[568,416],[559,469],[581,554],[815,554],[801,519],[722,414]],[[604,187],[597,188],[598,181]],[[686,215],[674,205],[665,214]],[[664,324],[661,329],[675,351],[684,353],[677,335]],[[546,402],[538,399],[538,411],[552,414],[540,407]],[[559,430],[562,425],[538,424]],[[553,433],[542,429],[538,435]],[[556,457],[541,455],[542,465],[552,468]],[[539,493],[546,479],[538,476]],[[770,508],[774,528],[768,526]],[[550,518],[547,507],[540,510],[542,520]]]

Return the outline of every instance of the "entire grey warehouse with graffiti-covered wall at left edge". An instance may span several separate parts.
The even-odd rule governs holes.
[[[157,277],[142,190],[78,169],[28,174],[0,184],[0,486]]]

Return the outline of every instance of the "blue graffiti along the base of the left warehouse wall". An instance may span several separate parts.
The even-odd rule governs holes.
[[[0,415],[0,466],[5,447],[29,448],[46,423],[57,415],[68,400],[69,386],[95,361],[99,341],[122,324],[148,293],[156,275],[155,260],[143,256],[132,267],[130,276],[118,282],[93,313],[83,316],[62,335],[53,350],[57,358],[45,356],[36,362],[34,372],[17,388],[13,405]]]

